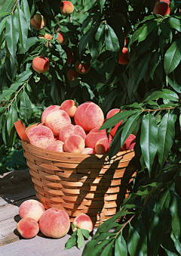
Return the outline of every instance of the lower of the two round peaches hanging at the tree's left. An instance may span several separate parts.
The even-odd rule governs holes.
[[[38,56],[32,60],[32,68],[38,73],[46,72],[49,67],[50,61],[46,57]]]

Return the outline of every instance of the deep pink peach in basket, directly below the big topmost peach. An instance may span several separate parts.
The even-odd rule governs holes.
[[[90,133],[87,134],[85,138],[85,145],[87,148],[95,148],[96,143],[100,139],[107,139],[106,132],[104,130],[99,130],[99,128],[94,129],[95,131],[91,130]]]

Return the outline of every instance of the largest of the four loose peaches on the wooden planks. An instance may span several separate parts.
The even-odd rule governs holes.
[[[44,211],[39,220],[39,229],[44,236],[59,239],[65,236],[70,228],[69,215],[66,211],[50,208]]]

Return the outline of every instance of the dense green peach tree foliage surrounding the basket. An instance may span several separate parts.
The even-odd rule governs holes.
[[[127,109],[102,128],[109,133],[123,120],[110,157],[130,133],[137,134],[139,171],[130,197],[97,229],[83,255],[181,254],[181,3],[171,1],[170,14],[161,17],[152,13],[155,1],[71,2],[75,6],[71,17],[60,14],[60,0],[6,0],[0,11],[3,143],[8,148],[14,145],[14,122],[19,118],[26,125],[35,122],[31,118],[39,105],[60,105],[72,98],[79,105],[94,101],[104,114],[110,108]],[[30,27],[37,12],[46,20],[39,31]],[[69,39],[67,45],[57,42],[58,31]],[[54,35],[50,48],[38,38],[45,32]],[[118,59],[125,36],[130,62],[122,65]],[[66,46],[75,55],[69,65]],[[50,60],[46,73],[32,69],[38,55]],[[90,62],[91,69],[69,83],[66,73],[77,60]],[[168,160],[170,165],[165,165]],[[121,221],[115,223],[118,217]],[[82,245],[80,236],[78,241]],[[76,242],[75,237],[72,245]]]

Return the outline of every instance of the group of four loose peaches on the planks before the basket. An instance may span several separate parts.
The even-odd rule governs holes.
[[[55,239],[65,236],[69,232],[70,220],[66,211],[50,208],[45,211],[43,204],[34,199],[23,201],[19,208],[21,220],[17,223],[17,231],[25,239],[31,239],[39,232],[44,236]],[[93,230],[93,221],[87,214],[75,217],[72,231],[87,229]]]

